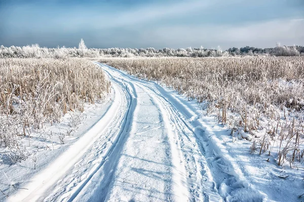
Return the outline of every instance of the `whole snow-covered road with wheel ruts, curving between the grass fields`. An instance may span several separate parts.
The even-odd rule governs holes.
[[[10,201],[262,201],[219,155],[200,115],[155,82],[99,64],[115,91],[104,117]]]

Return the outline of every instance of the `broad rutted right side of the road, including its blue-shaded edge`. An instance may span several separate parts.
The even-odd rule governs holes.
[[[139,80],[116,69],[113,69],[113,71],[120,73],[134,84],[138,83],[138,85],[144,86],[150,91],[149,94],[159,97],[163,107],[171,112],[171,121],[176,124],[177,130],[181,134],[179,135],[180,143],[177,142],[177,144],[185,155],[186,170],[190,174],[188,177],[189,192],[192,194],[190,199],[194,201],[202,200],[200,193],[204,194],[205,200],[212,201],[235,200],[235,194],[237,194],[237,198],[238,193],[247,193],[248,200],[261,200],[263,198],[264,194],[262,192],[255,190],[243,177],[240,179],[240,175],[242,176],[241,170],[223,156],[216,143],[208,137],[203,129],[206,124],[199,120],[200,115],[196,111],[184,106],[180,98],[173,98],[171,94],[168,94],[155,82]],[[191,135],[187,135],[188,132],[185,132],[183,128],[188,130]],[[186,138],[183,136],[186,136]],[[191,151],[195,150],[201,158],[194,155],[192,157],[193,161],[189,161],[191,155],[188,155],[183,147]],[[196,150],[196,148],[199,148],[199,150]],[[197,179],[195,182],[191,180],[193,171],[196,171]],[[201,175],[198,173],[201,173]],[[255,192],[259,192],[260,196],[250,198]]]

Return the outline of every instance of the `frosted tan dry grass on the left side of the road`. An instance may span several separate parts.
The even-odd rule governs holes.
[[[59,123],[67,112],[83,112],[85,103],[103,99],[109,86],[103,71],[82,59],[0,59],[0,148],[10,150],[11,163],[25,160],[30,155],[25,138],[31,145],[32,133]],[[82,120],[72,115],[70,125]],[[64,143],[71,132],[39,138],[57,135]]]

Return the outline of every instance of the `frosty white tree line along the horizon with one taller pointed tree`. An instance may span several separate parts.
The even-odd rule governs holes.
[[[200,48],[87,48],[83,39],[79,47],[67,48],[40,47],[39,44],[26,46],[0,46],[0,58],[98,58],[98,57],[234,57],[234,56],[304,56],[304,46],[285,46],[277,43],[276,47],[232,47],[226,51]]]

